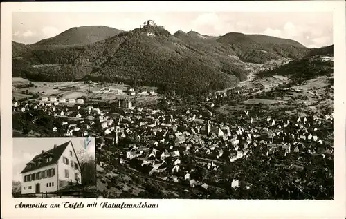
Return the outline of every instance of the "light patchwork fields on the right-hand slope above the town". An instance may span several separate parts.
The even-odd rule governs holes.
[[[319,113],[323,109],[333,111],[333,88],[332,82],[328,77],[316,77],[304,82],[300,86],[292,86],[284,89],[284,93],[280,97],[280,92],[272,90],[276,86],[291,82],[287,77],[274,75],[257,79],[255,81],[247,81],[242,84],[242,88],[260,88],[262,91],[251,92],[253,97],[247,98],[240,102],[241,104],[224,104],[216,108],[216,111],[223,114],[232,113],[234,111],[246,110],[254,107],[256,104],[264,104],[271,111],[282,111],[285,114],[296,114],[298,112],[304,115],[311,113]],[[271,98],[268,93],[277,93]],[[263,95],[262,95],[263,94]]]

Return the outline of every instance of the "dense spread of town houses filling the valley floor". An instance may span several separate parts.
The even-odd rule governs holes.
[[[216,99],[225,95],[217,93],[206,100],[213,107]],[[229,124],[210,120],[212,113],[203,107],[172,115],[159,109],[134,108],[127,99],[116,102],[119,109],[116,112],[86,105],[59,109],[48,104],[14,106],[28,110],[44,108],[54,117],[69,115],[73,120],[62,123],[64,135],[96,137],[100,150],[104,146],[106,149],[119,146],[120,164],[163,180],[187,182],[190,187],[209,187],[197,180],[194,168],[185,164],[190,155],[204,163],[208,171],[217,171],[220,164],[253,153],[282,157],[298,153],[323,158],[333,154],[332,140],[326,139],[333,132],[332,114],[283,119],[244,111],[237,115],[240,120]],[[52,128],[58,131],[57,127]],[[290,168],[303,169],[304,162],[297,161]],[[232,187],[239,187],[239,179],[233,179]]]

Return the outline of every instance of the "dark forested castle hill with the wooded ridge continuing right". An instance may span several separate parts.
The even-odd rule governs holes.
[[[125,82],[200,93],[246,79],[251,68],[244,62],[299,59],[310,50],[275,37],[235,40],[229,36],[182,31],[171,35],[160,26],[137,28],[84,46],[33,48],[20,57],[13,56],[13,75],[41,81]]]

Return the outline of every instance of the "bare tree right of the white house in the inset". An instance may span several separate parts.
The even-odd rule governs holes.
[[[80,162],[80,173],[82,175],[82,185],[96,185],[96,161],[95,157],[84,149],[77,152],[78,161]]]

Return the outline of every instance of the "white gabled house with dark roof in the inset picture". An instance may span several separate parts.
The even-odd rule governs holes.
[[[71,141],[36,155],[21,171],[21,193],[55,192],[82,184],[80,162]]]

